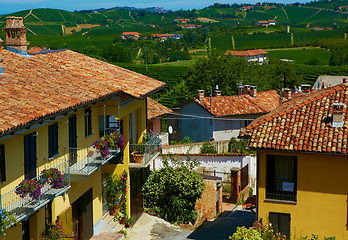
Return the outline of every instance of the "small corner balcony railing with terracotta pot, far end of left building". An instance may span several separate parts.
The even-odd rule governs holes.
[[[147,143],[129,144],[130,163],[147,166],[161,152],[159,134],[153,136]]]

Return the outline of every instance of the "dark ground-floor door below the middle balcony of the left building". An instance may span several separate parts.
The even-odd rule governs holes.
[[[93,191],[90,188],[72,204],[73,239],[87,240],[93,236]]]

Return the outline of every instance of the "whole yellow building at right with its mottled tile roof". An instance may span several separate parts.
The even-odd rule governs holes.
[[[303,93],[246,128],[257,150],[257,219],[291,239],[348,239],[346,83]]]

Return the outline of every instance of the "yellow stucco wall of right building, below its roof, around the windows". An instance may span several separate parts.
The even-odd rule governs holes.
[[[271,202],[266,197],[266,157],[297,156],[297,203]],[[346,156],[259,152],[258,219],[269,212],[290,213],[291,239],[319,235],[348,239],[346,227],[348,161]]]

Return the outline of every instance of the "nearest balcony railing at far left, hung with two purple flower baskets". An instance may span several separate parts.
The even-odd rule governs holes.
[[[1,195],[1,208],[14,214],[16,221],[28,217],[31,213],[40,209],[48,202],[52,201],[55,197],[63,194],[70,188],[70,173],[69,173],[69,162],[65,158],[56,159],[50,163],[46,163],[46,169],[57,168],[64,176],[63,186],[55,189],[50,184],[45,183],[41,188],[41,195],[38,199],[33,199],[28,195],[21,198],[16,194],[15,187],[11,191]],[[45,179],[42,175],[37,176],[37,181],[44,182]]]

